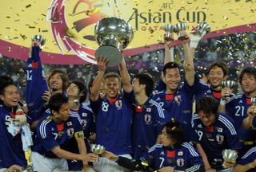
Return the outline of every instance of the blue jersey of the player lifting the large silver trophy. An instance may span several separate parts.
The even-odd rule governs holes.
[[[131,153],[131,124],[134,92],[126,93],[114,103],[98,98],[90,101],[96,119],[96,143],[114,154]]]

